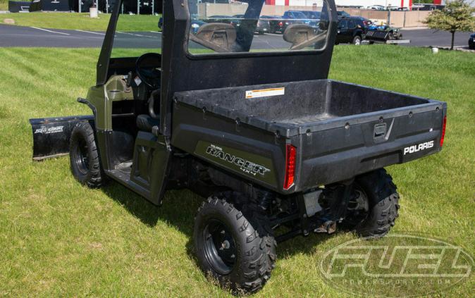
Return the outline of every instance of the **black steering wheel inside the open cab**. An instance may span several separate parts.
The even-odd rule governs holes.
[[[147,53],[143,54],[135,62],[135,73],[145,85],[152,89],[160,87],[159,70],[161,64],[161,54]]]

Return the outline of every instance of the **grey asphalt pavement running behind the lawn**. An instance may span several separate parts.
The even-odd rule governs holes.
[[[450,33],[428,29],[402,30],[403,39],[410,39],[406,46],[450,46]],[[0,46],[37,46],[63,48],[97,48],[101,47],[104,32],[85,30],[56,30],[39,27],[21,27],[0,25]],[[459,32],[455,35],[455,45],[467,46],[469,33]],[[116,46],[133,48],[161,47],[160,32],[116,32]],[[282,35],[255,35],[254,49],[282,49],[288,47]]]

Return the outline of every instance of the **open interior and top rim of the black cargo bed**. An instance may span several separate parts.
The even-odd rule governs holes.
[[[247,99],[249,90],[285,88],[283,95]],[[421,113],[439,101],[333,80],[309,80],[178,92],[175,99],[285,137],[335,128],[347,121]],[[410,111],[408,111],[408,109]]]

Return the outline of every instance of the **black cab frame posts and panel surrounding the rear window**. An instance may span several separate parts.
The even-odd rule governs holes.
[[[123,1],[116,1],[113,7],[97,62],[97,86],[104,85],[111,75],[126,75],[128,69],[133,68],[137,60],[137,57],[111,58]],[[263,3],[261,0],[257,1]],[[171,136],[171,107],[175,92],[317,80],[328,77],[338,15],[335,2],[324,1],[328,6],[330,21],[326,46],[322,49],[235,52],[200,56],[193,56],[187,49],[191,22],[188,2],[185,0],[160,1],[164,24],[161,35],[161,101],[159,105],[161,135]],[[246,13],[255,15],[257,12],[260,13],[260,8],[249,5]],[[158,44],[157,47],[159,47]]]

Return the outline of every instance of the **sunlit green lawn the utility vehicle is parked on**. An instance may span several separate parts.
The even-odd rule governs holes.
[[[75,99],[94,84],[98,53],[0,49],[0,296],[230,296],[195,263],[192,225],[202,198],[167,192],[156,208],[117,183],[82,187],[66,158],[31,161],[29,118],[90,113]],[[336,46],[331,78],[448,102],[443,151],[388,168],[402,196],[393,232],[438,237],[473,256],[474,55]],[[323,282],[318,264],[352,239],[337,233],[280,244],[276,270],[256,296],[345,297]],[[474,284],[472,274],[440,297],[473,297]]]

